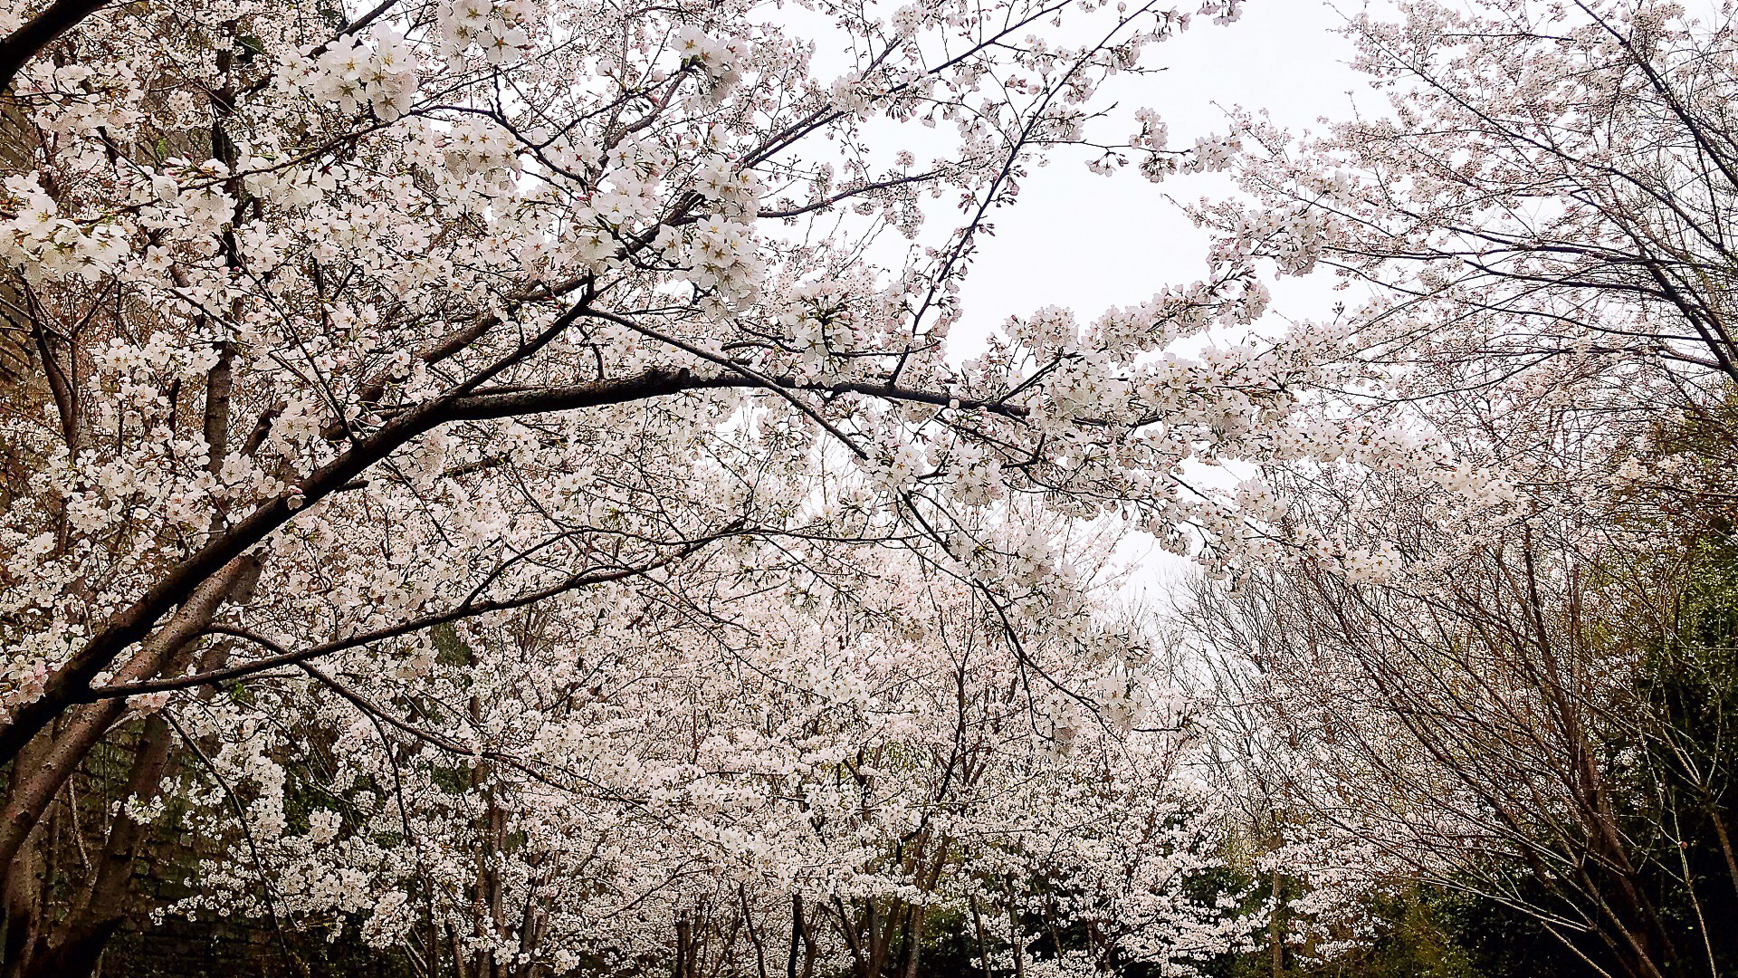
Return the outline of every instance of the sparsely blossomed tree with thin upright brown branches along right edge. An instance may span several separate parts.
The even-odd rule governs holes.
[[[1470,889],[1589,973],[1733,954],[1728,767],[1684,733],[1729,715],[1728,639],[1691,611],[1731,519],[1731,28],[1592,0],[1354,17],[1389,111],[1239,117],[1244,197],[1196,209],[1350,296],[1298,325],[1337,338],[1333,383],[1225,522],[1265,566],[1197,613],[1283,745],[1264,773],[1317,820],[1305,849],[1359,853],[1350,889]],[[1679,682],[1707,684],[1693,720]]]

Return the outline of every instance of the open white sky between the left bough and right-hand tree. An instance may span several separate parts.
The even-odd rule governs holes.
[[[1340,3],[1356,10],[1357,0]],[[1288,129],[1309,129],[1319,117],[1350,115],[1356,92],[1371,90],[1347,61],[1350,44],[1335,35],[1343,23],[1324,0],[1250,0],[1241,21],[1201,19],[1187,33],[1151,52],[1166,70],[1130,78],[1116,96],[1128,106],[1154,108],[1168,124],[1171,146],[1224,132],[1220,106],[1265,108]],[[1222,176],[1175,176],[1152,184],[1133,169],[1098,178],[1074,160],[1034,169],[1020,202],[994,216],[996,237],[980,240],[978,259],[961,292],[965,318],[958,346],[975,346],[1008,315],[1057,305],[1083,322],[1109,306],[1142,303],[1168,284],[1204,271],[1206,235],[1166,197],[1196,200],[1231,190]],[[1281,315],[1324,315],[1326,282],[1276,289]]]

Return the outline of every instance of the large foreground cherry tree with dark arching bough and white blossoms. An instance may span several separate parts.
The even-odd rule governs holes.
[[[1071,571],[1051,517],[1121,515],[1177,539],[1201,519],[1178,465],[1257,451],[1251,433],[1293,407],[1309,350],[1159,355],[1260,313],[1265,292],[1232,251],[1215,252],[1203,282],[1088,327],[1045,310],[972,358],[945,339],[977,238],[1034,158],[1090,148],[1097,169],[1138,164],[1154,179],[1224,164],[1220,143],[1168,148],[1145,113],[1121,144],[1093,131],[1114,125],[1097,97],[1109,77],[1140,71],[1144,50],[1192,16],[1236,14],[1234,0],[1199,12],[1027,0],[9,7],[10,966],[90,966],[120,919],[153,799],[182,760],[207,776],[186,790],[210,816],[247,828],[236,851],[249,879],[328,858],[339,839],[367,849],[396,837],[389,854],[342,849],[367,867],[344,879],[367,886],[309,896],[266,877],[257,908],[271,917],[377,905],[374,933],[415,943],[424,968],[579,954],[544,941],[584,929],[570,921],[502,924],[511,888],[485,879],[506,872],[490,853],[525,834],[577,844],[591,835],[574,825],[603,818],[601,832],[652,802],[619,769],[560,760],[572,745],[523,740],[547,734],[523,733],[514,710],[577,722],[563,717],[603,696],[586,693],[587,663],[615,663],[594,646],[615,644],[645,656],[612,670],[645,670],[633,682],[674,696],[608,707],[653,736],[693,703],[660,686],[657,656],[692,656],[690,672],[765,668],[747,649],[794,628],[789,607],[813,602],[824,618],[850,593],[824,581],[872,555],[916,560],[982,620],[973,628],[999,637],[1006,696],[1024,710],[1058,691],[1102,707],[1071,686],[1090,680],[1072,660],[1036,653],[1097,640],[1088,578]],[[952,207],[958,221],[925,230]],[[681,623],[671,647],[648,639],[666,621]],[[826,658],[831,640],[801,644]],[[605,733],[563,736],[614,736],[594,720]],[[255,736],[259,724],[276,733]],[[132,800],[50,928],[40,874],[23,868],[36,858],[31,832],[115,731],[136,731]],[[299,842],[282,837],[271,813],[287,781],[273,771],[295,745],[337,771],[367,769],[377,799],[393,785],[393,804],[356,804],[341,823],[306,816]],[[325,776],[292,783],[334,797],[355,787]],[[429,800],[454,778],[457,800]],[[944,780],[930,804],[958,790],[958,774]],[[584,807],[598,799],[617,814]],[[507,811],[535,823],[509,832]],[[669,828],[659,818],[627,832]],[[895,839],[904,851],[914,837]],[[469,854],[468,881],[452,875],[454,853]],[[681,872],[641,854],[612,858]],[[925,858],[945,861],[911,858],[902,872],[918,877]],[[556,879],[612,879],[586,877],[577,851],[551,860],[520,867],[530,889],[514,901],[553,898],[537,886]],[[405,879],[422,881],[396,891],[405,917],[388,898],[362,901]],[[436,882],[474,901],[434,907]],[[739,882],[746,919],[779,893]],[[921,905],[914,893],[900,900]],[[838,908],[841,933],[860,926],[885,950],[876,928],[892,924],[866,907],[864,924]]]

